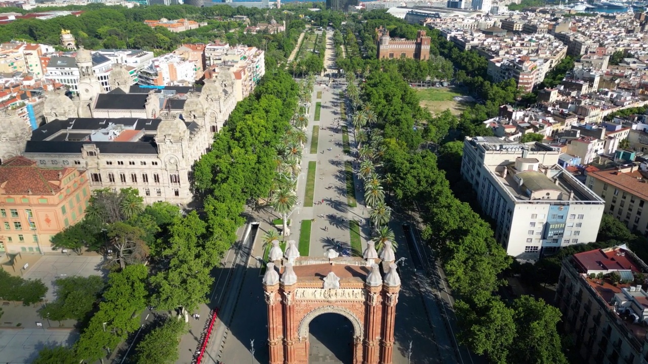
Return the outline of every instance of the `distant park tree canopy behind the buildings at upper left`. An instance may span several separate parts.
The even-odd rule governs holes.
[[[20,8],[12,11],[25,13]],[[55,45],[60,43],[61,29],[71,30],[78,44],[87,49],[145,49],[165,53],[173,51],[183,43],[209,43],[214,39],[226,40],[231,45],[245,44],[266,51],[269,63],[286,60],[295,49],[299,34],[305,23],[290,12],[245,6],[216,5],[197,8],[189,5],[152,5],[106,6],[91,4],[87,6],[70,5],[63,8],[46,8],[45,10],[84,10],[79,16],[62,16],[52,19],[17,19],[0,27],[0,41],[25,40],[36,43]],[[42,11],[42,8],[29,10]],[[7,10],[9,11],[9,10]],[[286,21],[286,32],[277,34],[246,34],[246,24],[242,21],[231,21],[235,15],[248,16],[251,25],[259,22]],[[191,19],[206,22],[200,27],[185,32],[170,32],[163,27],[151,28],[145,20]],[[222,19],[222,20],[219,20]],[[59,48],[61,51],[65,49]]]

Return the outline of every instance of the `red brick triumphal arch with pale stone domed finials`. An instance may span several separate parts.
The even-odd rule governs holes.
[[[268,304],[270,364],[308,363],[308,325],[323,313],[353,324],[353,364],[391,364],[400,277],[388,242],[362,257],[299,256],[294,241],[285,253],[273,242],[263,277]]]

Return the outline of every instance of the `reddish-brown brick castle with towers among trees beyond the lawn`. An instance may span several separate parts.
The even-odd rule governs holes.
[[[430,59],[430,37],[425,35],[425,30],[419,30],[416,40],[390,38],[389,30],[376,28],[376,43],[378,45],[378,59],[383,58],[414,58],[415,60]]]

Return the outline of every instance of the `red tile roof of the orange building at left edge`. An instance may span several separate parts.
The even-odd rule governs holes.
[[[54,195],[62,188],[62,179],[75,168],[42,168],[25,157],[13,157],[0,165],[0,193]]]

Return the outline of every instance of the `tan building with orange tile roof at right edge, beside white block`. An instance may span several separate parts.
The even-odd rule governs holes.
[[[632,231],[648,236],[648,169],[645,164],[588,172],[586,184],[605,200],[605,212]]]

